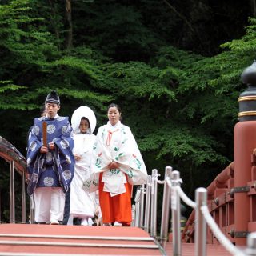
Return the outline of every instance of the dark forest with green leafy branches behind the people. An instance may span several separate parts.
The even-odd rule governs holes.
[[[59,114],[90,106],[97,127],[116,102],[148,173],[162,179],[173,166],[194,198],[234,158],[240,76],[256,58],[255,8],[252,0],[0,0],[0,136],[26,156],[27,131],[52,89]],[[2,159],[0,195],[8,222]]]

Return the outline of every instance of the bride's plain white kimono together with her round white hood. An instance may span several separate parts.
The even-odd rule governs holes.
[[[75,132],[74,154],[81,156],[81,160],[76,161],[74,165],[74,178],[70,186],[70,218],[68,225],[72,225],[73,218],[82,218],[82,225],[91,225],[90,218],[94,218],[97,208],[95,193],[89,194],[82,189],[83,182],[90,177],[92,151],[96,139],[96,136],[92,134],[96,123],[94,118],[90,117],[91,113],[88,114],[88,109],[86,106],[81,106],[74,111],[71,119]],[[86,134],[82,134],[78,129],[82,117],[86,117],[90,121],[90,129],[87,130]]]

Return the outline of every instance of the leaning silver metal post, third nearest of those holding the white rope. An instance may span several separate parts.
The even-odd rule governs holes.
[[[160,242],[162,247],[166,249],[166,242],[168,236],[168,227],[170,222],[170,186],[167,183],[167,179],[170,180],[172,168],[166,166],[165,172],[165,183],[163,188],[162,196],[162,218],[161,218],[161,231],[160,231]]]

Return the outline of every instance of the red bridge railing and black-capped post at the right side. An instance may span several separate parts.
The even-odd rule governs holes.
[[[238,98],[239,122],[234,127],[234,162],[207,187],[207,206],[222,233],[235,245],[246,245],[246,237],[256,231],[256,62],[244,70],[249,88]],[[193,241],[194,212],[183,239]],[[207,241],[218,243],[211,231]]]

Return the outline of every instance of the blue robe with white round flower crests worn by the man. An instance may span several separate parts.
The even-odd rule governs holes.
[[[54,142],[55,149],[41,154],[42,122],[47,123],[47,144]],[[29,195],[36,187],[62,187],[64,193],[69,189],[74,176],[74,132],[67,117],[35,118],[27,148],[27,167],[30,182]]]

